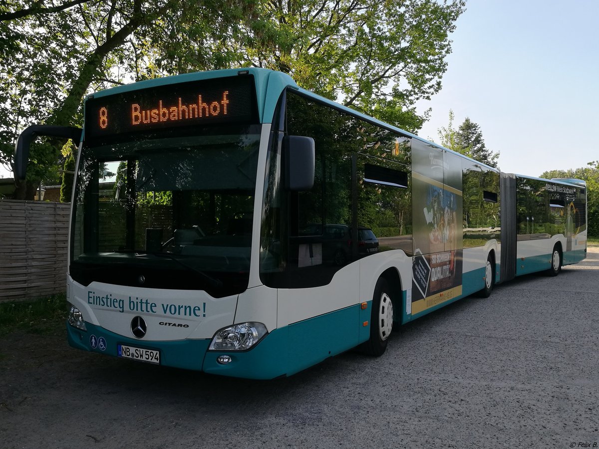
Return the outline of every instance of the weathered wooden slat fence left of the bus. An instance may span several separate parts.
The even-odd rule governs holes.
[[[70,208],[0,200],[0,302],[65,292]]]

